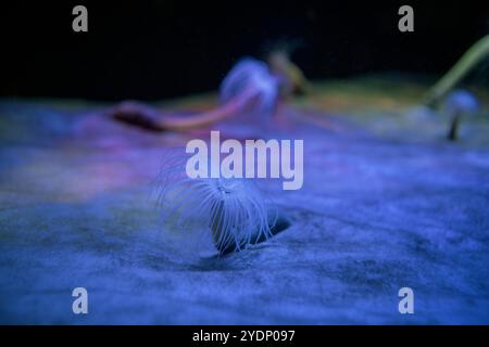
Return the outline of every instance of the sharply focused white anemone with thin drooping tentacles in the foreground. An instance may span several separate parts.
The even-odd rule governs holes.
[[[265,201],[250,179],[189,178],[184,157],[170,158],[162,171],[159,203],[165,222],[209,230],[221,254],[272,236],[276,209]]]

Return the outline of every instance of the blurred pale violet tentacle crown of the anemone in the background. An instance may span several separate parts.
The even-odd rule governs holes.
[[[264,62],[246,57],[224,78],[220,94],[223,104],[239,100],[251,113],[271,114],[277,103],[278,79]]]

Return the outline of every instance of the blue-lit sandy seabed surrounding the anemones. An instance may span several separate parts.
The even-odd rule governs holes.
[[[165,149],[210,129],[159,134],[104,105],[0,101],[0,323],[489,323],[487,100],[448,143],[444,119],[412,110],[422,88],[366,86],[326,85],[275,130],[213,127],[305,147],[302,190],[263,188],[291,228],[223,258],[167,230],[151,194]],[[77,286],[87,316],[72,312]],[[403,286],[414,314],[398,312]]]

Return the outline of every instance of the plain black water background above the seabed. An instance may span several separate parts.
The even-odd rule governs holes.
[[[280,42],[312,79],[439,75],[489,33],[489,1],[15,1],[1,4],[1,94],[154,100],[215,90]],[[88,9],[88,33],[72,9]],[[414,33],[398,9],[414,8]],[[487,74],[487,64],[477,72]]]

